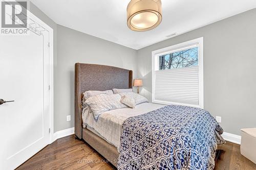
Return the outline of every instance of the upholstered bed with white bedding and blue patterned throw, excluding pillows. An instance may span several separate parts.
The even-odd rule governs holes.
[[[181,167],[213,169],[217,144],[223,144],[225,141],[220,136],[222,129],[205,110],[185,106],[142,103],[135,109],[123,108],[106,111],[102,113],[97,123],[92,115],[83,113],[81,100],[84,91],[132,88],[132,75],[132,70],[113,66],[75,64],[76,137],[86,141],[119,169],[140,169],[142,166],[147,169],[160,166],[163,168],[167,166],[170,169],[181,169]],[[170,112],[172,113],[170,114]],[[131,135],[131,131],[136,135]],[[142,134],[144,136],[141,137]],[[191,136],[193,136],[193,141],[191,141]],[[154,138],[158,138],[159,141],[152,140]],[[195,138],[197,140],[194,140]],[[212,140],[208,138],[212,138]],[[205,146],[206,144],[209,145],[208,148]],[[142,153],[142,150],[145,152]],[[209,160],[198,158],[200,154],[195,154],[195,151],[196,153],[200,152]],[[160,153],[160,156],[155,153]],[[129,163],[126,160],[129,160]],[[139,163],[136,162],[138,160],[140,160]],[[168,162],[174,163],[166,165],[166,162],[167,164]]]

